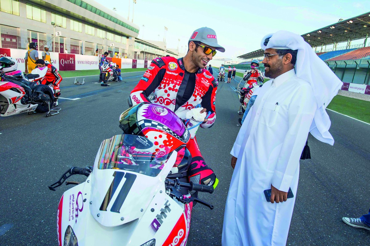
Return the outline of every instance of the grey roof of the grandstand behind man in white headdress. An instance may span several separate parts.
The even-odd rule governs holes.
[[[363,39],[370,34],[370,12],[361,14],[347,20],[340,20],[332,25],[307,32],[301,36],[312,47],[330,45],[350,40]],[[241,59],[249,59],[263,56],[263,50],[252,51],[238,56]]]

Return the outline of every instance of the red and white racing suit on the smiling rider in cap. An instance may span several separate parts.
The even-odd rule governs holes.
[[[206,69],[199,69],[196,73],[185,70],[182,58],[174,57],[155,58],[141,80],[131,91],[132,104],[150,102],[148,96],[153,92],[154,103],[161,104],[185,120],[186,112],[201,104],[211,112],[208,121],[202,123],[202,128],[209,128],[216,119],[216,91],[217,80]],[[212,185],[215,174],[207,167],[199,150],[196,138],[190,139],[186,148],[192,155],[189,169],[189,179],[194,183]]]

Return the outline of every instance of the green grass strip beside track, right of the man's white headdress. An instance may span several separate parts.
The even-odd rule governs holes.
[[[348,115],[360,121],[370,123],[370,102],[337,95],[327,108]]]

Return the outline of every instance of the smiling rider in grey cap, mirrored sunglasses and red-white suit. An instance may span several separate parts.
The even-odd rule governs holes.
[[[154,103],[168,107],[183,120],[186,112],[201,104],[201,112],[209,111],[211,114],[200,126],[211,127],[216,119],[218,83],[205,67],[216,50],[225,52],[217,43],[215,31],[208,27],[195,30],[189,39],[186,55],[179,59],[171,56],[155,58],[131,91],[129,99],[133,104],[150,102],[148,96],[154,92]],[[205,163],[196,138],[190,139],[186,147],[192,155],[189,180],[215,187],[216,176]]]

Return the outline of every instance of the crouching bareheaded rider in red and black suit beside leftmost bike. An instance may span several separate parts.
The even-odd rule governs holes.
[[[53,87],[55,98],[54,106],[55,107],[58,106],[58,98],[60,96],[59,84],[63,80],[62,76],[60,76],[58,70],[53,65],[51,65],[50,63],[46,64],[46,62],[43,59],[38,59],[36,60],[35,63],[36,67],[47,67],[46,75],[41,83],[46,84],[47,86],[49,86],[49,84],[52,84],[51,87]]]

